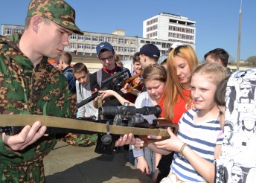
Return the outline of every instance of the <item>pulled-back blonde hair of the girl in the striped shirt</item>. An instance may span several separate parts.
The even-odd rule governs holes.
[[[227,72],[223,65],[219,63],[204,63],[199,65],[193,71],[193,75],[199,74],[200,76],[204,77],[206,80],[211,80],[214,85],[219,85],[221,81],[227,77]]]

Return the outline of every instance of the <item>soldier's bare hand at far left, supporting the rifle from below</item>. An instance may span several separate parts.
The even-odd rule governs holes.
[[[19,134],[9,136],[3,132],[1,137],[4,144],[12,150],[23,150],[45,135],[45,131],[46,126],[41,126],[41,122],[36,121],[32,126],[25,126]]]

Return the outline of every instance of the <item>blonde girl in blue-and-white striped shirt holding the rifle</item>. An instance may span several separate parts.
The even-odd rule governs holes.
[[[169,139],[148,145],[156,153],[167,155],[176,152],[170,174],[175,174],[181,181],[214,182],[214,159],[219,157],[223,141],[220,109],[214,101],[214,93],[225,77],[222,65],[199,65],[191,78],[195,109],[182,115],[177,136],[168,129]],[[143,143],[138,140],[135,147],[140,146]]]

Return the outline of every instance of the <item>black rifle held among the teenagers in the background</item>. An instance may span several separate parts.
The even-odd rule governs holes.
[[[106,80],[103,80],[101,82],[101,86],[106,85],[106,83],[109,83],[109,81],[111,81],[111,80],[112,80],[112,83],[103,87],[100,90],[112,89],[114,91],[119,91],[122,88],[122,86],[124,86],[124,82],[125,82],[126,77],[127,77],[127,74],[125,74],[125,73],[127,73],[128,71],[129,71],[128,68],[124,68],[123,71],[120,71],[120,72],[114,74],[112,77],[109,77]],[[98,94],[99,94],[99,92],[95,92],[95,93],[92,94],[91,97],[88,97],[85,100],[83,100],[82,102],[77,103],[77,108],[80,108],[81,106],[86,105],[86,103],[91,102],[92,100],[94,100],[98,96]]]

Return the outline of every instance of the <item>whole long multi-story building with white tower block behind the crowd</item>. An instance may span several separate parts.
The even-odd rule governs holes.
[[[87,31],[83,31],[84,35],[73,33],[69,36],[70,45],[65,46],[64,51],[71,52],[74,62],[86,62],[88,68],[95,71],[101,67],[96,55],[96,47],[100,42],[110,42],[115,54],[118,54],[120,60],[123,61],[132,60],[135,52],[148,43],[159,48],[161,52],[159,62],[167,57],[173,42],[185,42],[195,48],[195,22],[188,20],[188,18],[160,13],[145,20],[143,25],[144,37],[126,36],[125,30],[115,30],[111,34]],[[4,36],[10,36],[12,33],[23,33],[24,30],[25,26],[22,25],[1,24],[1,34]]]

